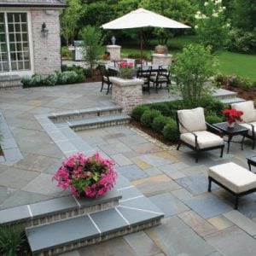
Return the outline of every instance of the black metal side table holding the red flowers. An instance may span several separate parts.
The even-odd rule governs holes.
[[[227,149],[227,153],[230,152],[230,142],[232,140],[232,137],[236,136],[236,135],[241,135],[241,150],[242,150],[242,143],[244,141],[245,135],[247,134],[248,129],[242,125],[238,125],[235,124],[234,127],[229,127],[227,122],[223,122],[223,123],[217,123],[217,124],[213,124],[214,127],[218,128],[218,130],[222,131],[224,135],[228,136],[228,149]],[[236,142],[238,143],[238,142]]]

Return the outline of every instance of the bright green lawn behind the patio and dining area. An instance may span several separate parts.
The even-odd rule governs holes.
[[[173,56],[181,52],[183,46],[186,44],[196,44],[197,38],[195,36],[183,36],[177,38],[171,38],[167,44],[169,53]],[[143,55],[146,55],[150,59],[152,53],[154,52],[154,46],[158,42],[156,39],[151,41],[148,46],[149,49],[143,49]],[[133,44],[129,48],[122,48],[121,53],[123,57],[133,54],[140,56],[139,43]],[[236,74],[241,78],[247,78],[251,81],[256,81],[256,55],[244,55],[229,51],[218,51],[216,53],[219,59],[219,72],[226,75]]]

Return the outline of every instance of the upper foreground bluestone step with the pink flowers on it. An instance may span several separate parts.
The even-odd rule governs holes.
[[[40,201],[0,211],[0,224],[25,223],[26,227],[52,224],[63,219],[100,212],[119,205],[122,198],[115,189],[101,198],[75,198],[72,195]]]

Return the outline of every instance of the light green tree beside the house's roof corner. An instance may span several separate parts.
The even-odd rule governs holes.
[[[68,45],[69,42],[73,42],[75,37],[82,5],[79,0],[67,0],[67,4],[67,9],[61,15],[61,34],[66,39],[66,44]]]

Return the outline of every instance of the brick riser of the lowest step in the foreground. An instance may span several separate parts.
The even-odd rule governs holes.
[[[44,250],[44,252],[32,253],[32,255],[33,256],[52,256],[52,255],[58,255],[60,253],[67,253],[67,252],[71,252],[73,250],[77,250],[80,247],[86,247],[86,246],[90,246],[90,245],[93,245],[93,244],[96,244],[96,243],[99,243],[102,241],[108,241],[115,237],[125,236],[125,235],[131,234],[131,233],[135,233],[137,231],[141,231],[141,230],[145,230],[145,229],[154,227],[159,224],[160,224],[160,218],[156,218],[154,220],[148,221],[143,224],[135,224],[128,228],[126,227],[126,228],[118,230],[118,231],[108,232],[102,236],[98,235],[98,236],[90,237],[89,239],[84,238],[84,240],[71,242],[65,246],[50,248],[49,250]]]

